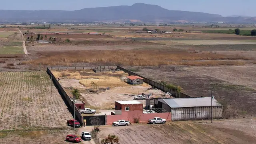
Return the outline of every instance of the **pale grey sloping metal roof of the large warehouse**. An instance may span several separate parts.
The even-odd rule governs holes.
[[[200,107],[211,106],[211,97],[205,98],[169,98],[158,100],[171,108],[186,108],[186,107]],[[213,98],[212,106],[222,106],[217,100]]]

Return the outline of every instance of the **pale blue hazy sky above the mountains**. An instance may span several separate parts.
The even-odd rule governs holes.
[[[1,10],[80,10],[82,8],[156,4],[168,10],[207,12],[222,16],[256,16],[256,0],[0,0]]]

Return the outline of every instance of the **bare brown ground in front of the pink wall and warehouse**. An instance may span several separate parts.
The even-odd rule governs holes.
[[[233,123],[233,124],[231,124]],[[233,125],[230,127],[230,125]],[[255,143],[255,119],[170,122],[160,125],[101,127],[100,138],[115,134],[120,144],[244,144]],[[250,133],[252,132],[252,133]]]

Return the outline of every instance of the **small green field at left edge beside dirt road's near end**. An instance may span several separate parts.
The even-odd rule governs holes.
[[[0,54],[24,54],[22,46],[2,46]]]

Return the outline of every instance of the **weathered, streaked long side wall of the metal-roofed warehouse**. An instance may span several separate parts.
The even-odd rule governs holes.
[[[163,108],[166,104],[163,104]],[[211,106],[191,107],[191,108],[172,108],[172,120],[192,120],[211,118]],[[222,106],[213,106],[213,118],[222,117]]]

